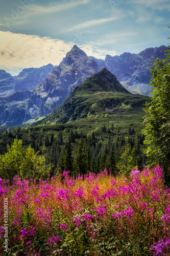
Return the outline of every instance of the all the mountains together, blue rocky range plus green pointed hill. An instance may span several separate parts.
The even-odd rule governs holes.
[[[164,59],[165,50],[160,46],[102,60],[88,57],[75,45],[59,66],[23,69],[15,77],[1,70],[0,125],[33,123],[53,111],[41,122],[65,123],[99,112],[141,109],[148,98],[142,95],[152,92],[150,63]]]

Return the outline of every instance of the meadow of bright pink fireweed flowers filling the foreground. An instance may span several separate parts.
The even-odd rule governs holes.
[[[159,166],[129,178],[104,170],[45,181],[14,177],[12,185],[0,179],[0,200],[1,255],[170,255],[170,189]]]

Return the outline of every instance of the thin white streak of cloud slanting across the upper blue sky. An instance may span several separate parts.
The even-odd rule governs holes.
[[[100,24],[103,24],[103,23],[112,22],[112,20],[115,20],[115,19],[118,19],[118,18],[120,18],[120,17],[110,17],[110,18],[101,18],[101,19],[88,20],[87,22],[78,24],[78,25],[76,25],[72,28],[69,28],[69,29],[67,29],[63,32],[65,33],[65,32],[71,32],[71,31],[75,31],[75,30],[80,30],[80,29],[93,27],[93,26],[100,25]]]

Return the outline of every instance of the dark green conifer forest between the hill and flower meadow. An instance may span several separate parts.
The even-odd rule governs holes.
[[[136,134],[133,123],[129,125],[126,134],[120,129],[103,125],[100,133],[84,135],[79,129],[72,131],[65,129],[54,134],[41,127],[17,128],[13,132],[6,131],[0,134],[3,141],[0,153],[6,153],[6,144],[13,143],[14,139],[21,139],[23,147],[30,145],[38,155],[44,155],[46,164],[52,164],[55,172],[69,170],[72,175],[85,174],[88,171],[98,173],[103,169],[118,172],[117,163],[125,152],[127,144],[130,152],[135,152],[133,165],[142,168],[145,157],[142,153],[144,136]],[[67,137],[65,136],[67,134]],[[64,139],[63,139],[64,137]]]

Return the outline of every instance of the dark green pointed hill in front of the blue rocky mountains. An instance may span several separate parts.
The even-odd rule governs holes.
[[[52,114],[40,123],[66,123],[91,116],[101,117],[107,113],[119,115],[134,109],[142,111],[143,104],[149,97],[133,95],[128,92],[116,77],[106,68],[87,78],[76,87]]]

